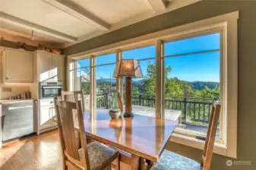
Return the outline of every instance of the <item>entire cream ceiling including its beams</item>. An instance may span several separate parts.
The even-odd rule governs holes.
[[[67,47],[199,1],[0,0],[0,36]]]

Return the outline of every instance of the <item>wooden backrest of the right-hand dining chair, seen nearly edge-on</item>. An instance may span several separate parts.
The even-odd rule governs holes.
[[[210,121],[207,128],[207,136],[204,144],[203,155],[201,159],[201,166],[203,170],[210,170],[210,162],[213,156],[213,146],[216,138],[216,130],[220,118],[220,104],[213,104]]]

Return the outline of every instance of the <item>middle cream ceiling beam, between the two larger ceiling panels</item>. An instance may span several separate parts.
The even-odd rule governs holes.
[[[101,20],[99,17],[96,17],[94,14],[90,13],[86,9],[82,8],[80,5],[76,5],[74,2],[68,0],[43,0],[49,5],[58,8],[73,17],[77,17],[79,20],[83,20],[85,23],[89,23],[91,26],[95,26],[98,29],[104,31],[109,30],[109,23],[106,23],[104,20]]]

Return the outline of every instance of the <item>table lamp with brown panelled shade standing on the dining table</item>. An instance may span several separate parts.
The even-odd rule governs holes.
[[[115,78],[125,78],[125,117],[133,117],[131,111],[131,78],[141,78],[141,66],[139,61],[133,59],[120,60],[115,66],[113,74]]]

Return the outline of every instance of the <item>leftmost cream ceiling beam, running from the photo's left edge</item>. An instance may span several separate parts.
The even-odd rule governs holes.
[[[14,26],[20,26],[25,29],[30,29],[35,32],[40,32],[42,34],[55,37],[56,39],[62,39],[66,42],[76,42],[77,38],[72,36],[68,36],[62,32],[55,31],[53,29],[46,28],[45,26],[37,25],[36,23],[30,23],[27,20],[23,20],[18,17],[11,16],[10,14],[5,14],[4,12],[0,11],[0,20],[3,20],[7,23],[11,23]]]

